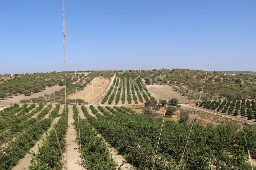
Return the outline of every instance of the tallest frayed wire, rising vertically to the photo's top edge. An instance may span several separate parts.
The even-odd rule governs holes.
[[[66,20],[65,20],[65,5],[64,0],[62,0],[62,11],[63,11],[63,28],[62,28],[62,34],[63,34],[63,57],[64,57],[64,86],[65,86],[65,105],[67,105],[67,96],[66,96],[66,51],[65,51],[65,44],[66,44],[66,38],[65,38],[65,28],[66,28]],[[67,110],[65,109],[65,146],[67,147]],[[66,153],[66,163],[67,163],[67,151]]]

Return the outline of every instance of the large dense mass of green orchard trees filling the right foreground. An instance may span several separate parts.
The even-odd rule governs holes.
[[[152,169],[162,119],[137,114],[126,107],[106,108],[112,114],[103,110],[103,116],[96,113],[92,106],[92,112],[96,113],[97,119],[89,114],[86,118],[130,163],[138,169]],[[99,110],[102,111],[102,108]],[[180,146],[185,145],[190,127],[191,124],[186,122],[164,122],[156,169],[177,168],[184,149]],[[255,131],[252,132],[255,134]],[[246,135],[250,133],[246,132]],[[252,134],[249,136],[254,142]],[[195,124],[183,158],[182,169],[210,169],[212,164],[217,169],[239,169],[240,165],[245,165],[247,158],[243,139],[241,131],[236,132],[229,125],[214,128],[211,125],[203,127]],[[251,148],[255,147],[252,143]]]

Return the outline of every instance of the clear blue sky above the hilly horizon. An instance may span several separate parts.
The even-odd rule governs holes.
[[[256,71],[255,0],[66,0],[67,70]],[[62,71],[62,1],[0,4],[0,74]]]

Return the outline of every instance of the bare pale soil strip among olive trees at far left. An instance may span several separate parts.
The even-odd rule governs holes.
[[[13,96],[12,98],[4,99],[4,100],[1,99],[0,105],[9,106],[11,103],[12,104],[15,104],[15,103],[21,104],[20,103],[21,99],[30,99],[33,97],[44,96],[44,94],[54,93],[55,91],[58,91],[58,90],[62,89],[63,87],[64,86],[58,86],[58,85],[54,85],[53,87],[46,87],[46,89],[44,91],[32,93],[31,95],[28,95],[28,96],[24,96],[23,94],[18,94],[16,96]]]

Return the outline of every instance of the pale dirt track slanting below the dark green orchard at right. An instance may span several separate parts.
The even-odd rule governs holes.
[[[181,106],[185,106],[185,107],[189,107],[189,108],[194,108],[194,109],[196,109],[196,106],[190,106],[190,105],[188,105],[188,104],[180,104],[180,105],[181,105]],[[203,112],[207,112],[207,113],[211,113],[211,114],[214,114],[214,115],[220,115],[220,116],[222,116],[222,117],[226,117],[226,118],[228,118],[228,119],[232,119],[232,120],[236,120],[236,121],[239,121],[239,122],[240,122],[240,119],[239,119],[238,116],[232,116],[232,115],[227,115],[227,114],[221,114],[221,113],[218,113],[218,112],[216,112],[216,111],[208,110],[208,109],[203,109],[203,108],[200,108],[200,107],[198,107],[198,110],[203,111]],[[251,121],[251,120],[246,120],[246,119],[244,119],[244,118],[241,118],[241,121],[242,121],[243,123],[248,123],[248,124],[252,124],[252,125],[256,124],[256,122]]]

